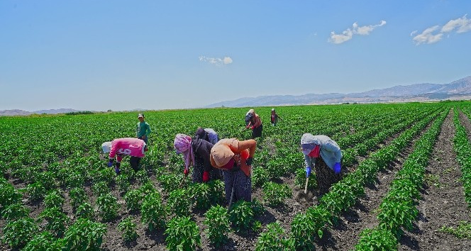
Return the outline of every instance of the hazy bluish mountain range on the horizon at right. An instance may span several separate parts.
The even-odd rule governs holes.
[[[285,106],[303,104],[382,103],[409,101],[439,101],[444,99],[471,99],[471,76],[449,84],[397,85],[352,94],[304,94],[244,97],[222,101],[206,107]]]

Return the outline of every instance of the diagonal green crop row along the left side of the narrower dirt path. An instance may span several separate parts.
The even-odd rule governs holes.
[[[392,162],[397,154],[409,145],[415,135],[419,134],[435,117],[436,114],[433,114],[424,118],[399,135],[388,147],[372,153],[369,160],[360,163],[355,172],[334,184],[331,191],[322,197],[318,206],[311,206],[306,213],[297,213],[292,221],[289,237],[272,225],[266,233],[261,235],[260,244],[257,247],[260,247],[260,250],[314,250],[316,237],[322,238],[325,229],[336,222],[340,213],[353,206],[364,194],[363,186],[374,182],[373,177],[379,169]],[[274,246],[270,246],[265,240],[270,240]],[[279,247],[280,245],[282,247]]]

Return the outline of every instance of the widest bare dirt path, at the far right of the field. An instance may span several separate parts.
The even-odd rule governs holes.
[[[471,248],[471,240],[459,240],[453,235],[440,232],[443,225],[455,228],[459,221],[470,221],[470,210],[460,182],[461,172],[453,150],[453,116],[451,110],[442,125],[426,167],[426,184],[417,206],[419,221],[414,225],[414,230],[406,232],[399,240],[399,250],[458,251]]]

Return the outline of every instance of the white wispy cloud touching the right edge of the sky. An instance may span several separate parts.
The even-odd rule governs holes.
[[[445,33],[452,33],[456,30],[456,33],[465,33],[471,30],[471,19],[468,19],[465,16],[462,18],[457,18],[454,20],[448,21],[444,26],[440,28],[440,26],[432,26],[430,28],[426,28],[423,32],[419,35],[414,36],[412,40],[416,45],[421,45],[423,43],[431,44],[437,43],[443,38]],[[417,30],[411,33],[411,36],[415,35]]]

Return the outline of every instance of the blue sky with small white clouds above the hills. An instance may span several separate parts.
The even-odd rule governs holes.
[[[4,0],[0,110],[446,84],[471,75],[470,45],[463,0]]]

